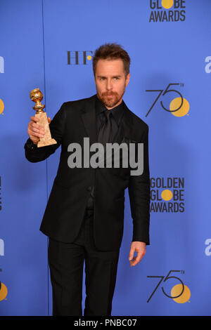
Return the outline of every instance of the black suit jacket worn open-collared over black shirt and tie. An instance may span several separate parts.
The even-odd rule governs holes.
[[[148,125],[123,102],[124,116],[117,143],[143,143],[144,166],[140,176],[130,176],[130,168],[74,168],[68,166],[68,145],[97,142],[96,95],[63,103],[49,124],[56,145],[35,147],[25,144],[29,161],[43,161],[61,145],[60,163],[53,182],[40,230],[61,242],[73,242],[79,233],[91,185],[95,185],[94,240],[102,251],[120,248],[124,226],[124,190],[128,187],[133,219],[132,241],[149,244],[150,173],[148,166]],[[91,153],[90,153],[91,156]]]

